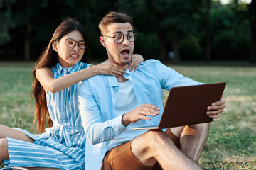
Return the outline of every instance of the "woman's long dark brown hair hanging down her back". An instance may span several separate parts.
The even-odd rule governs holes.
[[[60,26],[56,28],[55,32],[53,33],[53,37],[51,38],[48,46],[46,49],[41,53],[38,61],[36,62],[35,67],[32,70],[33,73],[33,81],[31,86],[31,101],[32,96],[34,96],[36,101],[36,113],[34,115],[33,126],[37,122],[37,130],[38,132],[45,132],[46,128],[46,119],[48,119],[48,126],[52,126],[53,123],[50,120],[50,116],[48,113],[47,103],[46,103],[46,91],[41,86],[38,79],[36,79],[36,69],[41,69],[43,67],[53,67],[55,64],[58,63],[58,53],[53,50],[52,43],[54,41],[58,41],[63,38],[64,35],[78,30],[85,41],[87,41],[87,36],[85,35],[84,28],[82,25],[75,19],[68,18],[62,23]],[[81,62],[88,62],[88,50],[85,49],[85,53],[82,56]]]

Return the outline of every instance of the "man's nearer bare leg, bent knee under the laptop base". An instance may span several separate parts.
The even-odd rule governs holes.
[[[163,169],[201,169],[161,130],[150,130],[136,137],[131,148],[135,157],[146,166],[153,166],[157,160]]]

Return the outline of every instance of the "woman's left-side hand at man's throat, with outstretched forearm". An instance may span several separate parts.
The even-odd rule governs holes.
[[[107,75],[114,75],[114,76],[124,76],[125,68],[120,67],[117,64],[114,64],[112,62],[102,62],[98,64],[97,67],[97,73],[98,74],[107,74]]]

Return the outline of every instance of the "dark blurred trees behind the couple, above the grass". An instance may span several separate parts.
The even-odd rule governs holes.
[[[0,0],[0,61],[37,60],[65,18],[85,26],[91,60],[105,60],[97,26],[109,11],[132,16],[145,60],[256,62],[256,0]]]

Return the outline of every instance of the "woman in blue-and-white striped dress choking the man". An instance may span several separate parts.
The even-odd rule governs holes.
[[[85,133],[78,109],[78,82],[96,74],[125,73],[124,68],[110,62],[91,66],[87,54],[87,38],[80,23],[63,21],[33,69],[34,124],[37,122],[43,134],[0,125],[0,163],[28,169],[84,169]],[[142,61],[140,55],[134,55],[130,69],[135,70]],[[50,128],[46,128],[47,119]]]

